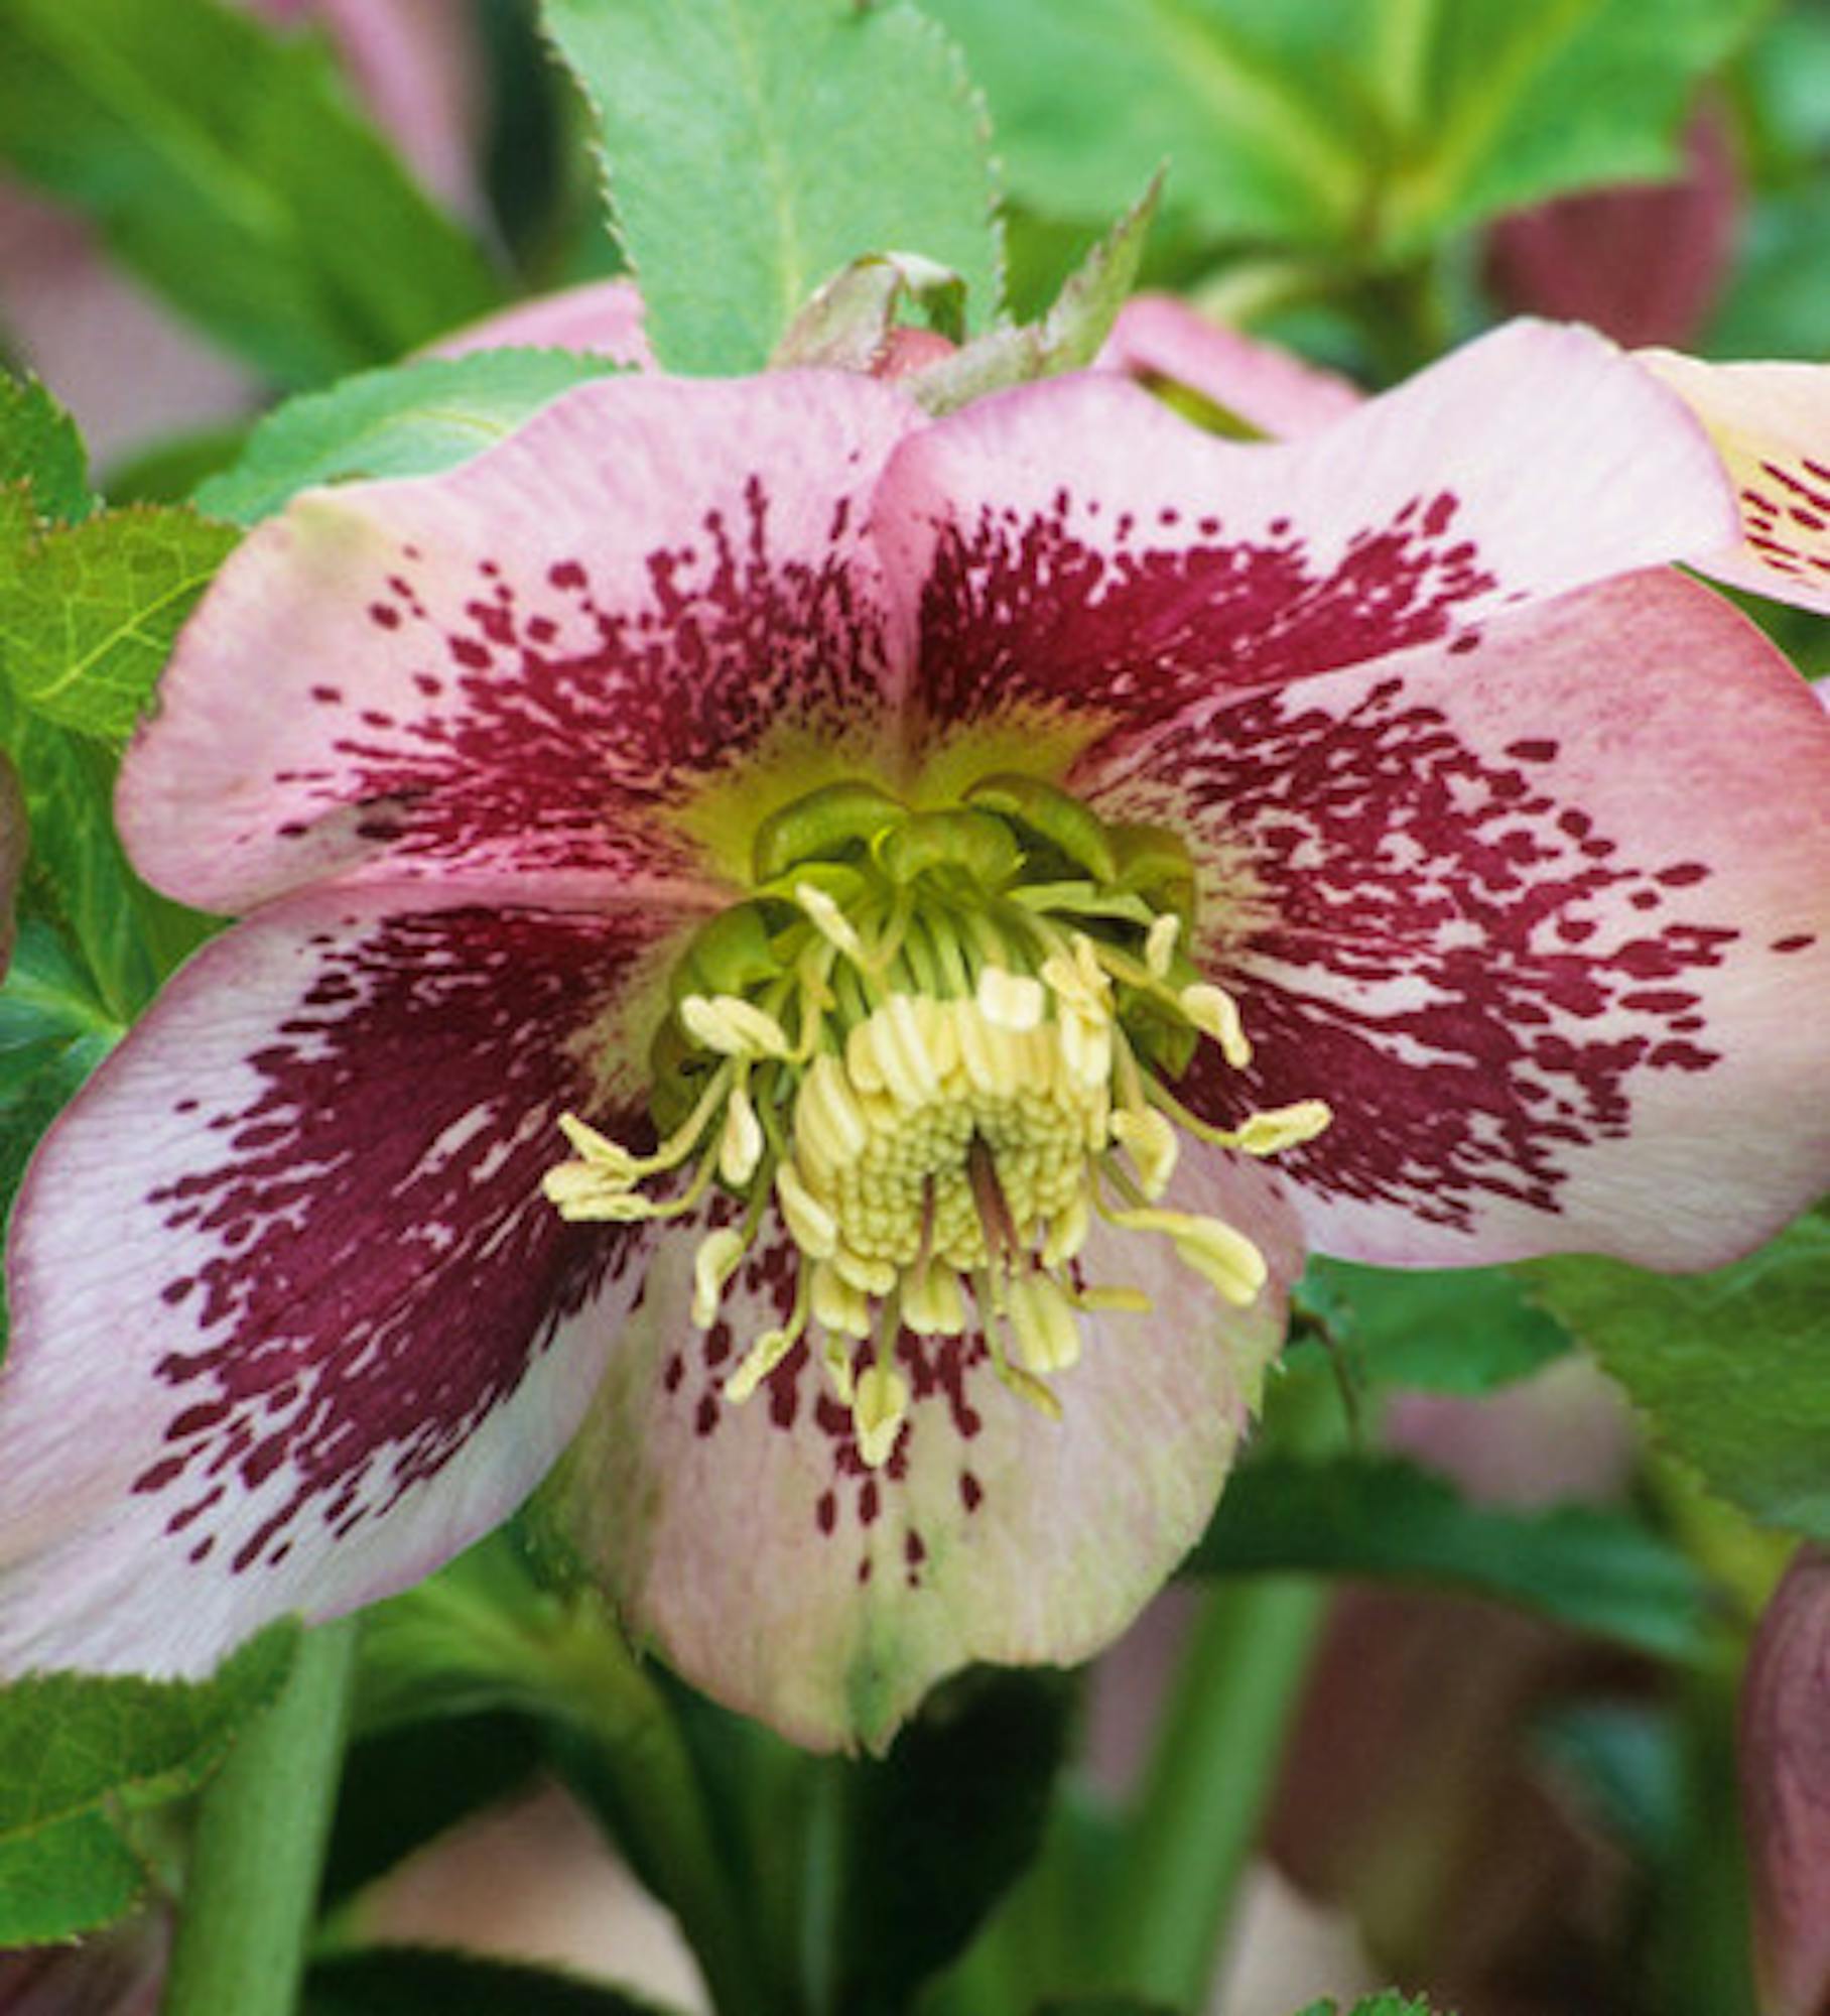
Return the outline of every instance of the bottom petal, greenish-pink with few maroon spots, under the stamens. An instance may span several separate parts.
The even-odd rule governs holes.
[[[877,1472],[804,1343],[754,1399],[722,1397],[792,1300],[780,1230],[709,1333],[687,1320],[691,1250],[669,1246],[536,1518],[693,1685],[808,1748],[885,1748],[975,1659],[1084,1659],[1201,1534],[1302,1264],[1264,1169],[1191,1157],[1179,1202],[1260,1242],[1272,1284],[1252,1310],[1161,1242],[1100,1232],[1086,1278],[1143,1284],[1157,1308],[1084,1318],[1084,1357],[1054,1379],[1062,1419],[1014,1397],[979,1337],[905,1333],[913,1401]]]

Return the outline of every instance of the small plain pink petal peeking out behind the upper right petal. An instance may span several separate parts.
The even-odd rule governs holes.
[[[1119,310],[1096,369],[1123,371],[1147,389],[1185,385],[1272,439],[1294,439],[1346,419],[1364,403],[1358,385],[1276,343],[1209,323],[1173,294],[1135,294]]]

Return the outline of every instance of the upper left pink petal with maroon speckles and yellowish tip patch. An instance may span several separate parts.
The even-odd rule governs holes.
[[[905,653],[863,518],[919,423],[840,373],[627,377],[457,470],[304,492],[127,752],[135,865],[216,911],[326,875],[715,873],[689,825],[722,784],[883,756]]]

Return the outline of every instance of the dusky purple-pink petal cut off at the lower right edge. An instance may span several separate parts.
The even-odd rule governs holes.
[[[1768,2016],[1830,2002],[1830,1552],[1804,1546],[1741,1685],[1741,1814]]]

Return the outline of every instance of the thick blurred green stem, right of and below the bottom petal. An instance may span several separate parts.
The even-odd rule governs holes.
[[[1110,1907],[1117,1980],[1205,2008],[1326,1607],[1318,1583],[1221,1583],[1195,1621]]]

